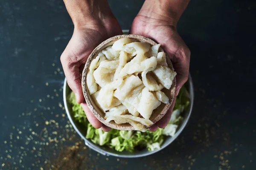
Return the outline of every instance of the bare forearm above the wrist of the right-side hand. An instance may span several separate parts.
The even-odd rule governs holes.
[[[164,22],[176,26],[190,0],[145,0],[139,15],[162,18]]]

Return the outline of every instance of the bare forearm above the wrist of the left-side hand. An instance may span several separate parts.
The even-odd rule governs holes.
[[[74,26],[104,22],[113,17],[107,0],[63,0]]]

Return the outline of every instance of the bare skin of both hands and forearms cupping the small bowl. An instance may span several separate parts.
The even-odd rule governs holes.
[[[81,103],[93,127],[109,131],[111,128],[99,122],[85,103],[81,73],[93,49],[104,40],[122,34],[122,29],[107,0],[64,0],[64,3],[74,23],[73,36],[61,55],[67,83],[76,94],[77,102]],[[160,43],[171,58],[177,72],[176,96],[189,75],[190,51],[176,29],[177,22],[188,3],[189,0],[145,0],[130,29],[130,34],[142,35]],[[155,131],[157,127],[166,127],[174,103],[175,101],[166,115],[149,130]]]

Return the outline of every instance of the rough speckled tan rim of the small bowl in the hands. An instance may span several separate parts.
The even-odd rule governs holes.
[[[92,102],[90,101],[90,98],[89,98],[89,91],[88,91],[88,88],[87,88],[87,84],[86,84],[86,78],[87,78],[87,72],[89,70],[89,66],[90,66],[90,63],[92,62],[92,60],[99,54],[99,51],[101,51],[102,49],[106,48],[108,44],[111,45],[111,42],[115,42],[116,40],[119,40],[121,38],[124,38],[124,37],[128,37],[128,38],[131,38],[131,39],[135,39],[135,40],[138,40],[140,42],[147,42],[149,43],[150,45],[156,45],[157,43],[154,42],[153,40],[147,38],[147,37],[144,37],[144,36],[141,36],[141,35],[134,35],[134,34],[124,34],[124,35],[116,35],[114,37],[111,37],[105,41],[103,41],[102,43],[100,43],[92,52],[91,54],[89,55],[85,65],[84,65],[84,70],[83,70],[83,73],[82,73],[82,79],[81,79],[81,85],[82,85],[82,91],[83,91],[83,94],[84,94],[84,98],[85,98],[85,101],[87,103],[87,106],[88,108],[90,109],[90,111],[93,113],[93,115],[100,121],[102,122],[104,125],[108,126],[108,127],[111,127],[113,129],[117,129],[117,130],[134,130],[134,127],[132,127],[131,125],[130,126],[124,126],[122,124],[118,125],[118,124],[113,124],[112,121],[111,122],[105,122],[105,119],[104,117],[102,117],[99,113],[97,113],[96,109],[94,108]],[[110,46],[109,45],[109,46]],[[159,48],[159,52],[162,52],[163,51],[163,48]],[[164,51],[163,51],[164,52]],[[170,60],[170,58],[168,57],[168,55],[166,54],[166,61],[167,61],[167,64],[169,66],[169,68],[171,68],[173,71],[174,71],[174,68],[173,68],[173,65],[172,65],[172,62]],[[171,88],[169,89],[170,93],[171,93],[171,97],[169,99],[169,104],[166,104],[165,107],[163,108],[163,110],[153,119],[151,120],[153,122],[153,125],[159,121],[161,118],[163,118],[163,116],[167,113],[167,111],[169,110],[169,108],[171,107],[172,105],[172,102],[175,98],[175,91],[176,91],[176,78],[174,78],[173,82],[172,82],[172,86]],[[145,126],[145,128],[148,128],[150,126]]]

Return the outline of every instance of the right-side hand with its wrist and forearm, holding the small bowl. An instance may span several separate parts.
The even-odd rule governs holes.
[[[161,2],[146,0],[132,23],[130,33],[148,37],[161,44],[161,47],[171,58],[173,67],[177,72],[175,94],[177,96],[189,76],[190,51],[176,29],[177,21],[186,6],[184,8],[183,4],[183,8],[175,12],[172,8],[174,4],[169,4],[171,1],[167,1],[165,3],[162,0]],[[157,127],[166,127],[171,118],[174,105],[175,99],[166,115],[150,127],[151,131],[157,130]]]

